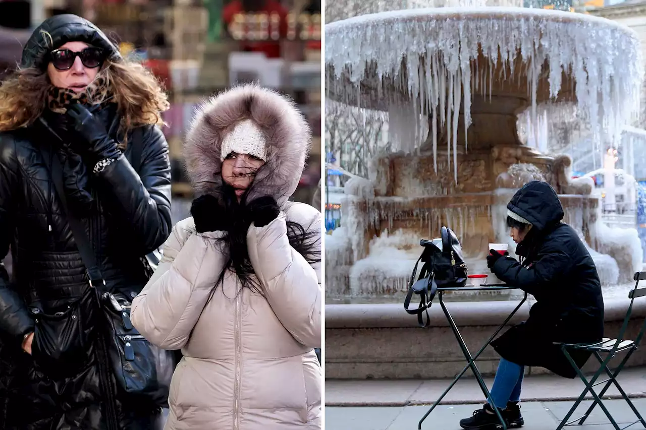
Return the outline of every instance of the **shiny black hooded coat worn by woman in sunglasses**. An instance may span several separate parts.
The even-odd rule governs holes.
[[[45,47],[41,30],[53,46]],[[116,47],[94,25],[76,15],[58,15],[34,31],[23,52],[23,66],[44,67],[49,50],[67,41],[100,46],[112,59],[120,59]],[[107,129],[120,120],[115,105],[98,115]],[[37,314],[30,307],[52,313],[65,309],[88,285],[52,183],[52,154],[63,158],[70,206],[78,203],[85,210],[81,221],[106,288],[132,298],[148,280],[141,258],[158,249],[171,229],[168,145],[159,128],[137,128],[125,153],[95,174],[92,167],[78,169],[64,162],[54,133],[76,138],[65,129],[63,116],[48,111],[29,127],[0,133],[0,261],[10,248],[14,266],[9,279],[0,264],[0,429],[105,429],[101,404],[106,390],[116,398],[120,428],[151,429],[158,408],[125,402],[114,381],[101,377],[96,363],[74,376],[45,374],[34,363],[36,358],[22,351],[21,343],[34,332]],[[140,165],[138,171],[131,165],[136,147],[140,162],[133,164]],[[94,346],[87,349],[92,356]]]

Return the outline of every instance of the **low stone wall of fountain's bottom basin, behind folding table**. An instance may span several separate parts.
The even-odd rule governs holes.
[[[517,301],[455,302],[446,306],[475,354],[517,304]],[[629,304],[628,298],[605,301],[606,337],[619,332]],[[526,320],[529,309],[530,303],[525,303],[510,324]],[[645,317],[646,300],[637,299],[627,338],[635,338]],[[328,379],[453,378],[466,364],[437,298],[427,329],[419,328],[417,317],[407,314],[402,304],[326,305],[325,320]],[[618,354],[611,366],[621,359],[623,354]],[[483,374],[493,375],[498,360],[494,349],[488,347],[477,365]],[[584,371],[596,370],[593,360],[590,358]],[[639,365],[646,365],[646,348],[638,349],[627,363],[628,367]],[[549,373],[541,367],[529,368],[527,372]]]

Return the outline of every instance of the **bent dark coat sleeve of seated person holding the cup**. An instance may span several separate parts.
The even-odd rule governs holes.
[[[529,294],[556,289],[557,278],[566,275],[572,269],[572,259],[557,243],[546,242],[537,254],[536,261],[530,267],[524,267],[511,257],[499,258],[492,267],[492,272],[499,280],[519,287]]]

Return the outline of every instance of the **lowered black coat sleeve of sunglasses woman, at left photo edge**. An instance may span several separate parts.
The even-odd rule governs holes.
[[[34,331],[34,321],[2,263],[14,234],[14,195],[18,190],[15,154],[14,139],[0,134],[0,331],[20,347],[25,334]]]

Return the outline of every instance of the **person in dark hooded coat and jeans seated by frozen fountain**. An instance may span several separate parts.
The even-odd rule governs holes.
[[[495,407],[508,427],[523,425],[518,402],[525,366],[545,367],[574,378],[572,368],[554,342],[598,342],[603,338],[603,296],[594,261],[572,227],[561,222],[563,207],[548,183],[532,181],[514,194],[507,205],[507,225],[517,243],[520,261],[508,253],[490,251],[488,267],[501,281],[532,294],[536,303],[526,322],[494,340],[501,355],[491,389]],[[572,353],[581,367],[589,353]],[[493,405],[485,404],[464,429],[495,429],[499,424]]]

